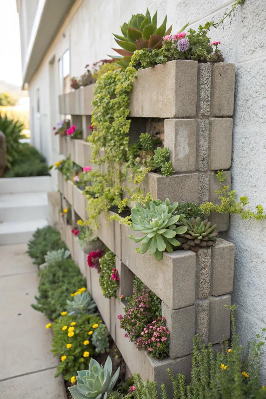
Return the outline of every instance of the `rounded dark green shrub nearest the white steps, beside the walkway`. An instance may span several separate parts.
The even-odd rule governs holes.
[[[48,251],[55,249],[67,249],[61,235],[54,227],[45,226],[37,229],[28,242],[28,255],[35,259],[35,265],[41,265],[45,262],[45,255]]]

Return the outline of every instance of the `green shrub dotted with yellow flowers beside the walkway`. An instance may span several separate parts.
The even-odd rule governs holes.
[[[91,335],[100,322],[96,314],[59,317],[52,324],[53,354],[61,359],[55,377],[61,373],[65,380],[77,375],[77,370],[88,369],[94,354]]]

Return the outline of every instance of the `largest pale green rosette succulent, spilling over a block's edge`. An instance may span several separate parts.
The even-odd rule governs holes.
[[[149,202],[146,207],[142,207],[136,202],[131,209],[132,224],[130,228],[134,231],[142,231],[145,235],[137,238],[132,234],[129,236],[135,243],[141,243],[140,253],[145,253],[149,249],[150,255],[160,261],[163,252],[173,252],[173,247],[179,247],[180,242],[175,239],[176,234],[187,231],[186,226],[176,227],[175,223],[182,220],[184,215],[172,215],[177,207],[177,202],[170,205],[168,198],[164,202],[157,199]]]

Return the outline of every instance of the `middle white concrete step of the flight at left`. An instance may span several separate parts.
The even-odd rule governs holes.
[[[0,194],[0,223],[47,217],[48,198],[45,192]]]

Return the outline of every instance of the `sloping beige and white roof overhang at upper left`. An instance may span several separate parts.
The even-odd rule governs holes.
[[[49,45],[75,0],[39,0],[28,43],[22,75],[24,87],[37,71]]]

